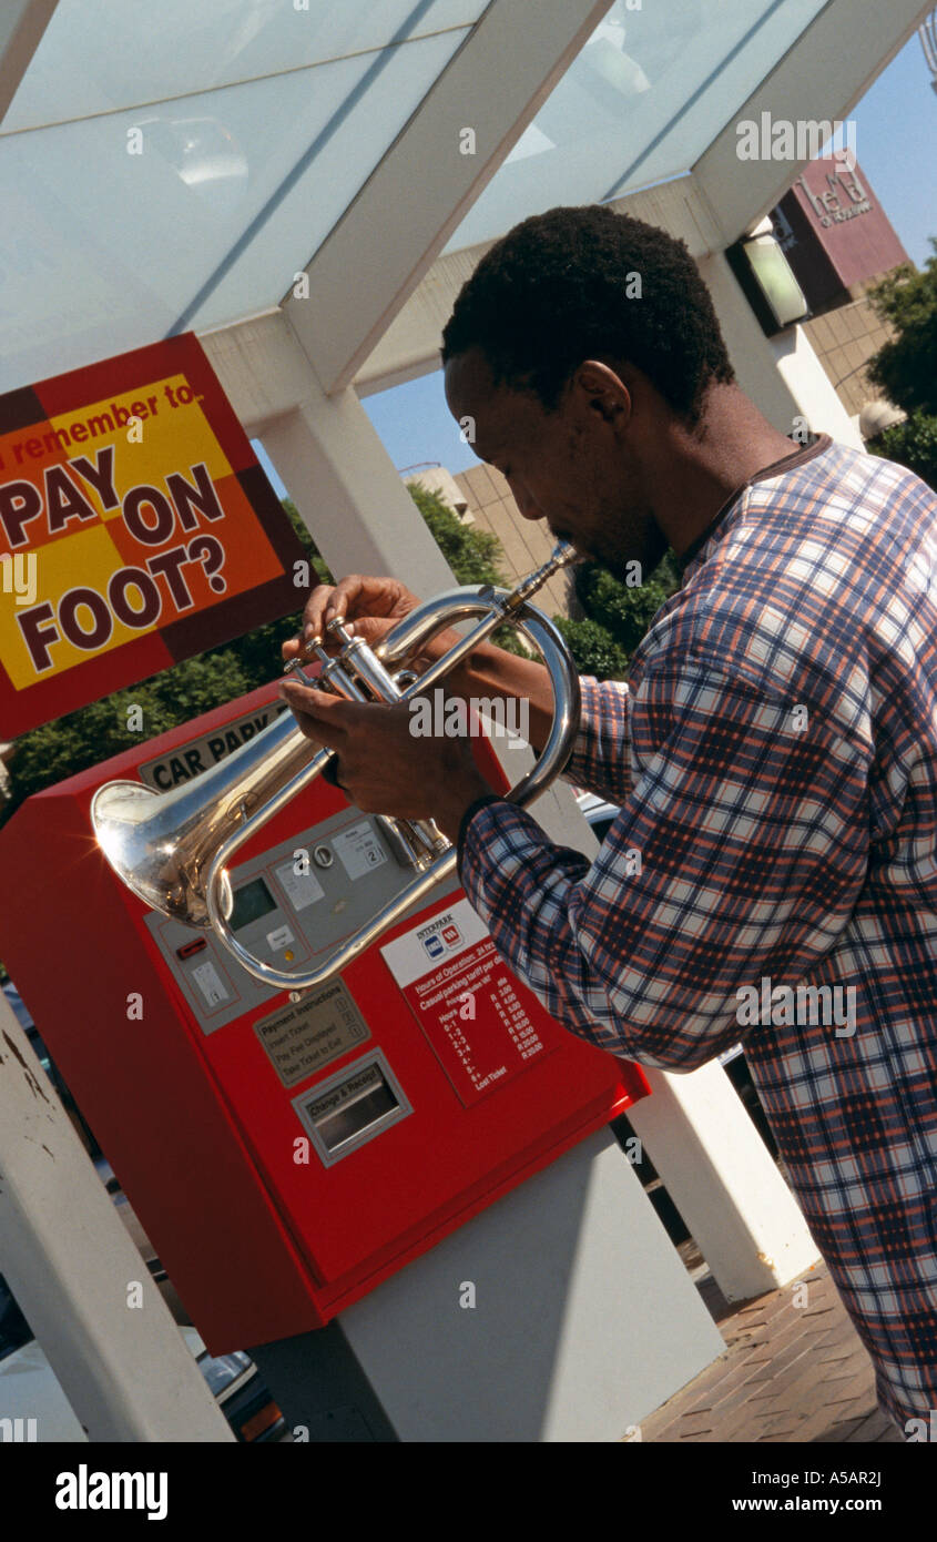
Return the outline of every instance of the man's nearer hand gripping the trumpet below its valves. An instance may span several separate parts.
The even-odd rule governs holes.
[[[435,819],[455,842],[468,805],[492,791],[472,740],[415,737],[407,703],[345,702],[297,680],[279,689],[305,737],[338,751],[339,786],[367,814]]]

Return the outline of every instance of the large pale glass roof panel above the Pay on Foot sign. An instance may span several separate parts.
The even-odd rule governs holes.
[[[484,0],[310,8],[60,0],[0,130],[0,390],[276,305]]]

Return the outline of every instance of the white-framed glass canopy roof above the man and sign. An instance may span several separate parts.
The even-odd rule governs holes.
[[[877,63],[915,9],[861,9]],[[834,12],[855,51],[848,0],[6,0],[0,390],[267,310],[307,267],[314,291],[317,264],[304,325],[345,287],[322,379],[347,384],[441,251],[698,165]]]

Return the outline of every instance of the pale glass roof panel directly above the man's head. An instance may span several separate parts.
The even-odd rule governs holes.
[[[445,250],[687,171],[824,3],[616,0]]]

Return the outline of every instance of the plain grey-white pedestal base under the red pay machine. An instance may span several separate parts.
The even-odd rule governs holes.
[[[724,1351],[607,1130],[339,1323],[401,1440],[640,1439],[640,1420]]]

